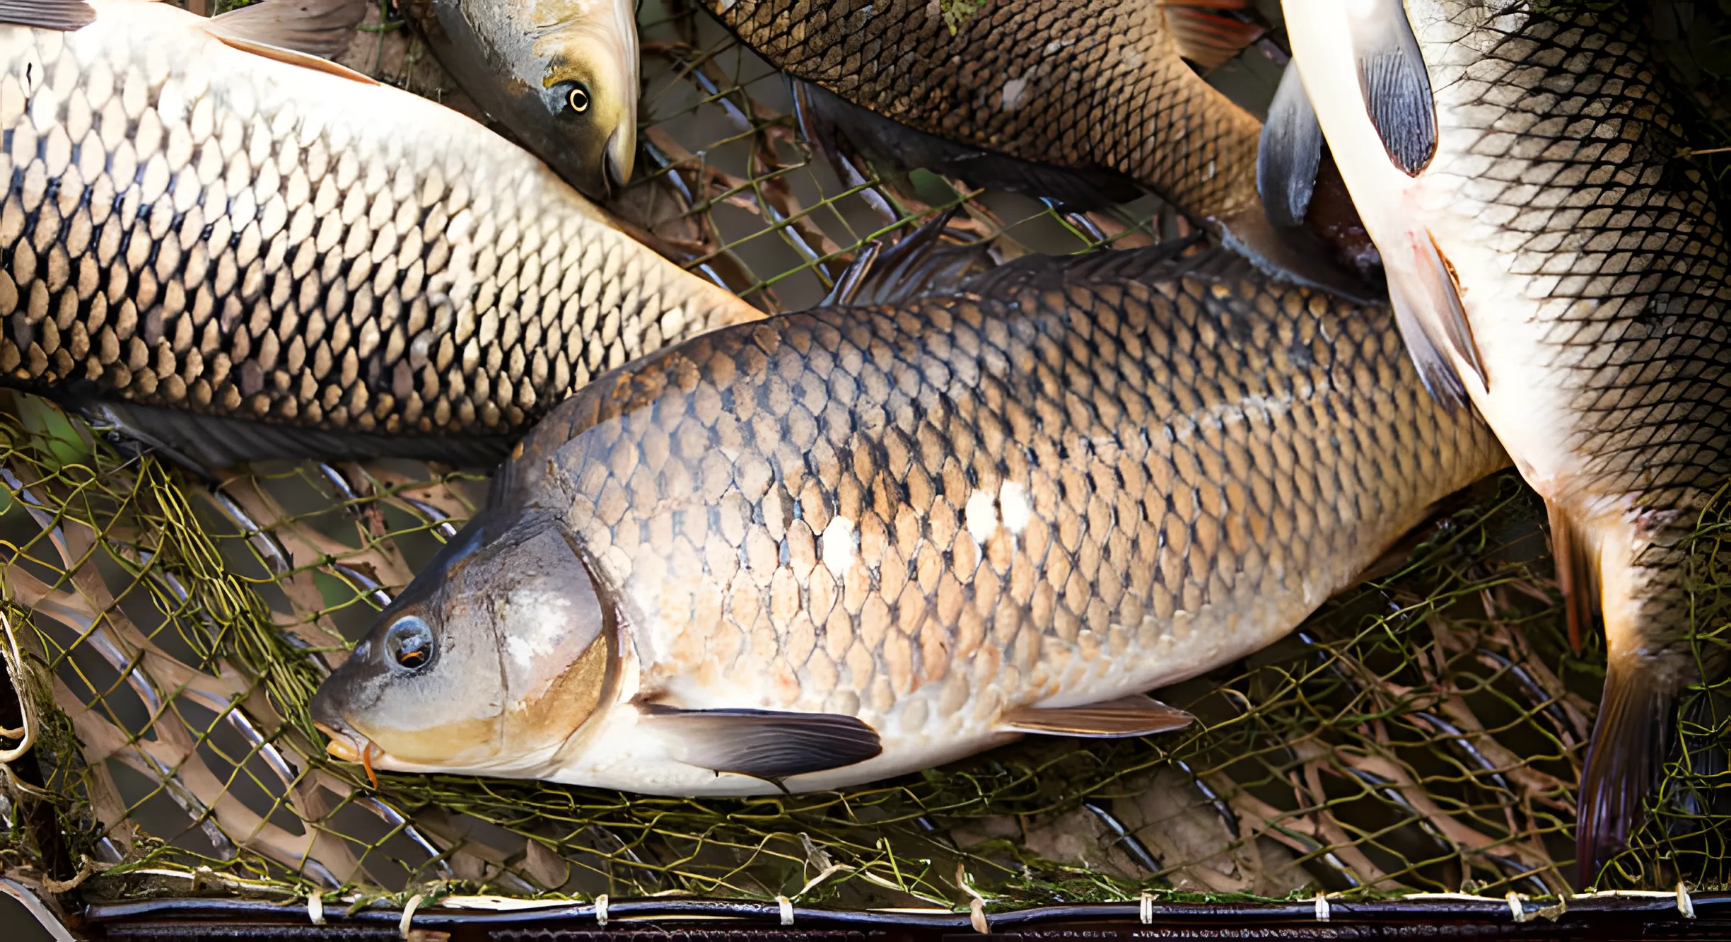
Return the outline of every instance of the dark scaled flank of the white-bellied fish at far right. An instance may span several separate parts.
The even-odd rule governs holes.
[[[1445,10],[1414,21],[1440,121],[1426,210],[1497,253],[1532,300],[1528,364],[1556,384],[1572,474],[1548,497],[1634,495],[1657,544],[1639,563],[1670,571],[1644,589],[1648,616],[1684,625],[1677,542],[1731,480],[1717,211],[1679,156],[1662,80],[1615,14]],[[1496,393],[1496,371],[1489,381]]]

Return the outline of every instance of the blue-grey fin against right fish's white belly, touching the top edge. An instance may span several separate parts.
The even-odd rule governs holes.
[[[1359,92],[1388,159],[1418,177],[1437,152],[1437,102],[1430,71],[1402,0],[1347,3],[1347,33]]]

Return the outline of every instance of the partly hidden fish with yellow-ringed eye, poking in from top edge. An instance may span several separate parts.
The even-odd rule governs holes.
[[[637,3],[409,0],[440,66],[573,187],[604,201],[637,159]]]

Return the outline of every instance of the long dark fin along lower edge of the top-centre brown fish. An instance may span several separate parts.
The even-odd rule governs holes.
[[[885,170],[924,168],[959,177],[973,187],[1047,196],[1073,210],[1099,210],[1142,196],[1141,185],[1115,170],[1058,168],[968,147],[885,118],[817,85],[789,81],[801,128],[831,161],[845,137]],[[840,170],[836,173],[846,178]]]

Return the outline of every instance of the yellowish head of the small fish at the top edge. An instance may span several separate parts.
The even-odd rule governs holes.
[[[589,3],[582,16],[535,38],[538,81],[524,106],[528,121],[547,128],[538,147],[594,199],[616,194],[637,159],[635,5]]]

